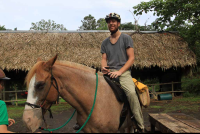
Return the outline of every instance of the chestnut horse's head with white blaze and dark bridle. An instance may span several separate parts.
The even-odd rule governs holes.
[[[23,122],[32,132],[39,128],[44,114],[59,96],[58,87],[55,90],[57,82],[52,73],[56,59],[57,55],[47,62],[38,60],[26,76],[28,96],[23,113]]]

